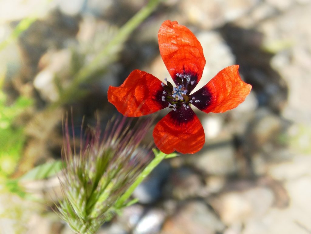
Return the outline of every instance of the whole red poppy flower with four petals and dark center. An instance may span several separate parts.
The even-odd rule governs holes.
[[[174,150],[193,154],[202,149],[205,134],[191,105],[209,113],[237,107],[252,86],[239,76],[239,66],[222,69],[194,93],[205,66],[203,49],[196,36],[176,21],[164,21],[158,32],[160,54],[175,86],[153,75],[134,70],[119,87],[109,87],[108,101],[129,117],[171,110],[153,130],[156,146],[164,153]]]

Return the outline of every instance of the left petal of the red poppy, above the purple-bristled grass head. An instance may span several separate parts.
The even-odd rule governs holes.
[[[163,87],[155,76],[134,70],[119,87],[109,86],[108,101],[128,117],[139,117],[168,106],[162,101]]]

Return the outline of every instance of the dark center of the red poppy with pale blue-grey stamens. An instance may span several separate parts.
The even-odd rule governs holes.
[[[186,110],[189,109],[189,104],[193,102],[194,98],[189,98],[188,90],[182,85],[173,87],[173,85],[164,79],[166,84],[161,83],[163,87],[162,102],[167,101],[169,103],[167,109],[173,109],[176,111],[179,107],[184,107]]]

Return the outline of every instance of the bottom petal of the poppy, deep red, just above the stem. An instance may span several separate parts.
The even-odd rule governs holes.
[[[205,134],[197,115],[191,108],[179,107],[169,112],[155,126],[153,138],[156,146],[165,154],[175,150],[183,154],[193,154],[201,150]]]

